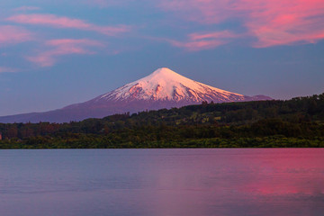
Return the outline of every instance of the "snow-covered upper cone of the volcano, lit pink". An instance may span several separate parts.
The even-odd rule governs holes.
[[[243,101],[244,95],[204,85],[181,76],[167,67],[162,67],[148,76],[96,98],[97,102],[102,100],[183,101],[193,103],[200,103],[202,101],[229,102]]]

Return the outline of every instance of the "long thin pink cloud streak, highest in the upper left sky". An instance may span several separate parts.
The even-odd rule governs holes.
[[[130,31],[130,27],[126,25],[99,26],[93,23],[86,23],[83,20],[71,19],[65,16],[57,16],[53,14],[19,14],[8,17],[6,20],[14,23],[37,24],[47,25],[55,28],[96,31],[110,36]]]

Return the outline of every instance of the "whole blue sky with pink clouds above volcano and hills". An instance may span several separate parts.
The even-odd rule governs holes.
[[[321,94],[323,23],[323,0],[0,0],[0,116],[159,67],[238,94]]]

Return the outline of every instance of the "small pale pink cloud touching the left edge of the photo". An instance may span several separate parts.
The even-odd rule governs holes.
[[[32,40],[32,33],[11,25],[0,26],[0,46]]]

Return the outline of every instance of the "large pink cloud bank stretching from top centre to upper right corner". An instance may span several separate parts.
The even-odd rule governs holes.
[[[322,0],[166,0],[159,6],[198,23],[237,20],[257,48],[324,39]]]

